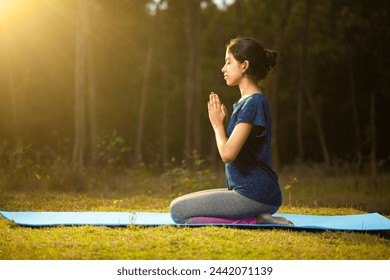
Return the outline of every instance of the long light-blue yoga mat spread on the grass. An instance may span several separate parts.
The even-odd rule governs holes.
[[[156,212],[6,212],[0,211],[6,219],[21,226],[163,226],[175,225],[169,213]],[[275,216],[285,217],[292,221],[294,226],[275,224],[213,224],[215,226],[232,226],[245,228],[296,228],[314,230],[347,230],[347,231],[388,231],[390,220],[378,213],[318,216],[281,214]],[[185,225],[185,226],[204,226]],[[209,224],[208,224],[209,225]]]

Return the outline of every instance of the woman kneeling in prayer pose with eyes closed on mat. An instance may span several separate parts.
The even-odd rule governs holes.
[[[273,217],[282,203],[278,177],[271,168],[271,116],[260,81],[276,65],[275,51],[252,38],[236,38],[226,47],[222,68],[228,86],[238,86],[225,131],[227,110],[217,94],[208,101],[210,123],[225,162],[227,188],[195,192],[171,203],[176,223],[291,224]]]

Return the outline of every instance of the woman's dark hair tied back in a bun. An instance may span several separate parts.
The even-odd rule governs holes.
[[[246,74],[256,82],[260,82],[267,76],[268,71],[276,65],[278,57],[276,51],[264,49],[260,42],[249,37],[230,40],[226,50],[241,63],[245,60],[249,61]]]

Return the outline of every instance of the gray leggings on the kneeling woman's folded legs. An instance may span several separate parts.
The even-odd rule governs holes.
[[[178,224],[194,217],[241,219],[274,214],[278,209],[279,206],[257,202],[226,188],[190,193],[171,202],[171,216]]]

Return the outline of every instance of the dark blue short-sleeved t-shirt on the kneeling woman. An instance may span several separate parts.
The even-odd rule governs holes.
[[[267,98],[258,93],[235,103],[228,137],[238,123],[251,123],[253,129],[236,159],[225,165],[228,189],[261,203],[280,206],[278,176],[271,168],[271,114]]]

